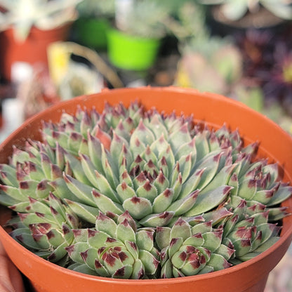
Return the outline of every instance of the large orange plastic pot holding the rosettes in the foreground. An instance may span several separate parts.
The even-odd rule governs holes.
[[[277,124],[263,115],[250,110],[239,102],[220,95],[199,93],[180,88],[123,88],[105,90],[102,93],[81,96],[55,105],[27,120],[1,145],[0,162],[6,162],[11,154],[12,145],[23,145],[25,138],[39,138],[41,120],[58,121],[62,110],[74,113],[77,105],[90,109],[93,105],[98,111],[105,101],[110,104],[124,102],[129,105],[139,100],[146,109],[157,107],[159,111],[178,114],[194,114],[195,120],[206,121],[209,126],[219,128],[226,123],[230,130],[239,129],[245,142],[260,141],[258,156],[277,161],[283,172],[284,181],[292,180],[292,138]],[[284,202],[292,211],[292,198]],[[4,211],[7,211],[4,208]],[[6,212],[1,210],[1,224]],[[269,272],[286,253],[292,240],[292,216],[283,220],[281,239],[264,253],[245,263],[210,274],[201,274],[177,279],[124,280],[93,277],[67,270],[39,258],[14,241],[0,227],[0,238],[8,255],[15,265],[32,281],[39,292],[55,291],[200,291],[200,292],[260,292],[265,288]]]

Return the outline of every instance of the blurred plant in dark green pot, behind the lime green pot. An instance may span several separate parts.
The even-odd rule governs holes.
[[[107,30],[114,19],[114,0],[84,0],[77,6],[74,22],[77,42],[94,49],[107,48]]]

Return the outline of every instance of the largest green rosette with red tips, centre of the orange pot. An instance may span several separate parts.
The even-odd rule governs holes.
[[[195,133],[190,117],[164,117],[155,110],[142,114],[135,104],[128,111],[121,105],[106,107],[91,132],[81,137],[82,121],[88,120],[82,113],[80,123],[72,124],[68,118],[59,128],[47,126],[45,139],[51,147],[59,143],[69,148],[65,160],[72,175],[63,176],[76,199],[66,201],[91,223],[99,211],[117,215],[128,211],[139,226],[164,226],[181,215],[211,210],[232,189],[227,185],[234,168],[231,141],[227,145],[225,137],[220,141],[207,130]],[[69,140],[78,135],[77,144],[69,147]],[[240,145],[236,133],[231,139]],[[209,185],[215,176],[217,183]],[[63,185],[53,187],[65,197]],[[204,196],[198,199],[199,193]]]

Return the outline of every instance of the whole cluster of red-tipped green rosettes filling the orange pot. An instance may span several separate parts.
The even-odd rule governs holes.
[[[1,164],[12,236],[72,270],[155,279],[222,270],[279,239],[292,188],[238,131],[106,104],[44,122]]]

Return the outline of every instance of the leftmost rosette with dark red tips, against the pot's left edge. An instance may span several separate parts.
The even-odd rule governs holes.
[[[9,164],[1,164],[1,203],[14,211],[29,211],[30,199],[47,199],[53,187],[52,180],[62,178],[64,171],[62,150],[54,150],[41,142],[28,140],[23,149],[13,147]]]

